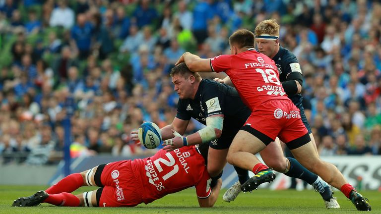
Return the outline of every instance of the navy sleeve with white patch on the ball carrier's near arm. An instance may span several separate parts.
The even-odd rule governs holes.
[[[224,114],[225,96],[219,90],[218,84],[217,82],[211,82],[202,92],[202,106],[205,108],[205,117]]]

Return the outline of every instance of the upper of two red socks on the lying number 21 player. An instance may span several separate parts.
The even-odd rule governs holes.
[[[49,187],[45,192],[48,194],[58,194],[62,192],[71,193],[83,185],[83,178],[80,173],[74,173],[64,177],[55,185]]]

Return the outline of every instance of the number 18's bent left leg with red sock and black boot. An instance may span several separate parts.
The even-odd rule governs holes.
[[[256,136],[265,140],[260,140]],[[256,131],[249,125],[244,126],[234,138],[229,148],[228,162],[240,168],[252,170],[255,174],[241,186],[243,191],[252,191],[261,183],[275,179],[275,172],[262,164],[254,155],[264,149],[266,144],[271,141],[273,141],[271,138]]]

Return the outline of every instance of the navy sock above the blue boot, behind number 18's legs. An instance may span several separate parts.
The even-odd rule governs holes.
[[[287,159],[290,160],[291,165],[288,172],[284,173],[285,175],[289,177],[300,178],[311,185],[316,181],[316,179],[318,179],[318,175],[306,169],[304,166],[302,166],[302,164],[298,162],[298,160],[293,158]]]

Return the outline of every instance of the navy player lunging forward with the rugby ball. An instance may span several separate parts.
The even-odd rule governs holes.
[[[251,110],[243,104],[234,88],[225,84],[219,84],[215,81],[201,79],[198,73],[191,72],[185,63],[180,63],[173,68],[171,76],[180,99],[178,102],[178,113],[172,124],[162,129],[164,142],[166,144],[171,142],[170,144],[172,144],[165,149],[180,148],[184,143],[188,145],[209,143],[208,172],[211,176],[218,177],[227,162],[226,155],[228,148],[234,136],[250,116]],[[183,134],[191,117],[207,127],[186,138],[172,138],[172,136],[170,136],[172,133],[169,130],[173,129]],[[214,122],[214,120],[216,122]],[[220,125],[222,131],[221,128],[217,128],[216,123],[222,123],[222,125]],[[167,131],[165,129],[167,129]],[[136,134],[136,131],[133,133]],[[165,133],[169,133],[169,135]],[[208,138],[209,136],[212,137]],[[214,137],[216,139],[210,141],[210,139]],[[166,140],[168,138],[172,139]],[[137,137],[135,137],[135,140],[137,140]],[[277,156],[272,155],[272,157],[279,157],[279,161],[282,161],[280,158],[283,158],[284,162],[286,162],[287,159],[283,157],[280,147],[273,148],[273,146],[269,146],[269,148],[265,150],[270,153],[274,153],[274,151],[278,152],[276,153]],[[270,156],[271,154],[268,156],[271,159]],[[245,183],[249,179],[248,171],[236,166],[234,167],[237,171],[239,182]],[[258,168],[266,169],[267,167],[258,165]],[[332,191],[328,184],[318,178],[316,174],[303,167],[297,160],[293,159],[292,164],[288,164],[282,168],[282,170],[287,172],[286,174],[289,176],[297,175],[297,178],[302,178],[306,181],[313,180],[312,183],[321,190],[320,192],[324,193],[323,195],[327,197],[328,200],[332,198]],[[256,172],[254,173],[257,174]],[[302,174],[302,176],[300,174]],[[261,173],[257,174],[257,177],[260,177],[260,175]],[[236,189],[241,191],[240,187]]]

